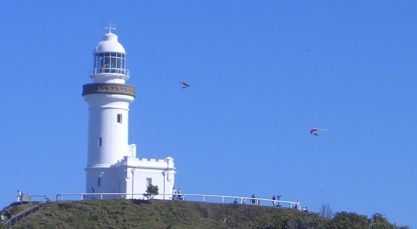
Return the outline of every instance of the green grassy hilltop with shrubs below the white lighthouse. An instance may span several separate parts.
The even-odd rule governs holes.
[[[15,209],[19,210],[19,209]],[[16,214],[16,213],[14,213]],[[0,226],[1,228],[1,226]],[[319,213],[290,208],[243,204],[213,204],[171,200],[83,200],[51,202],[12,228],[401,228],[381,214]]]

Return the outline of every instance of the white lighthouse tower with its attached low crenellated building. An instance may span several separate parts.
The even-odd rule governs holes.
[[[126,198],[143,198],[149,184],[159,193],[174,187],[174,159],[136,158],[136,145],[128,141],[129,104],[135,87],[126,84],[126,51],[112,34],[104,34],[93,52],[91,84],[84,84],[82,96],[88,103],[87,193],[131,193]],[[120,197],[108,195],[108,197]],[[158,195],[158,199],[170,199]]]

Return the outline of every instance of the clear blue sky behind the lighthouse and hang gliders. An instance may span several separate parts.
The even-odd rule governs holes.
[[[183,193],[282,195],[417,228],[416,10],[417,1],[1,1],[0,208],[17,189],[84,192],[82,84],[112,21],[136,86],[129,141],[139,158],[174,158]]]

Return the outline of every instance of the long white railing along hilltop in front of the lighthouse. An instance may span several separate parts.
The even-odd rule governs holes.
[[[139,199],[147,200],[145,193],[61,193],[56,195],[55,200],[104,200],[104,199]],[[234,195],[206,195],[206,194],[172,194],[162,193],[155,195],[154,199],[158,200],[186,200],[193,202],[210,202],[210,203],[228,203],[233,204],[235,200],[237,204],[261,205],[261,206],[281,206],[287,208],[297,208],[300,210],[300,204],[287,200],[271,200],[268,198],[252,198]]]

